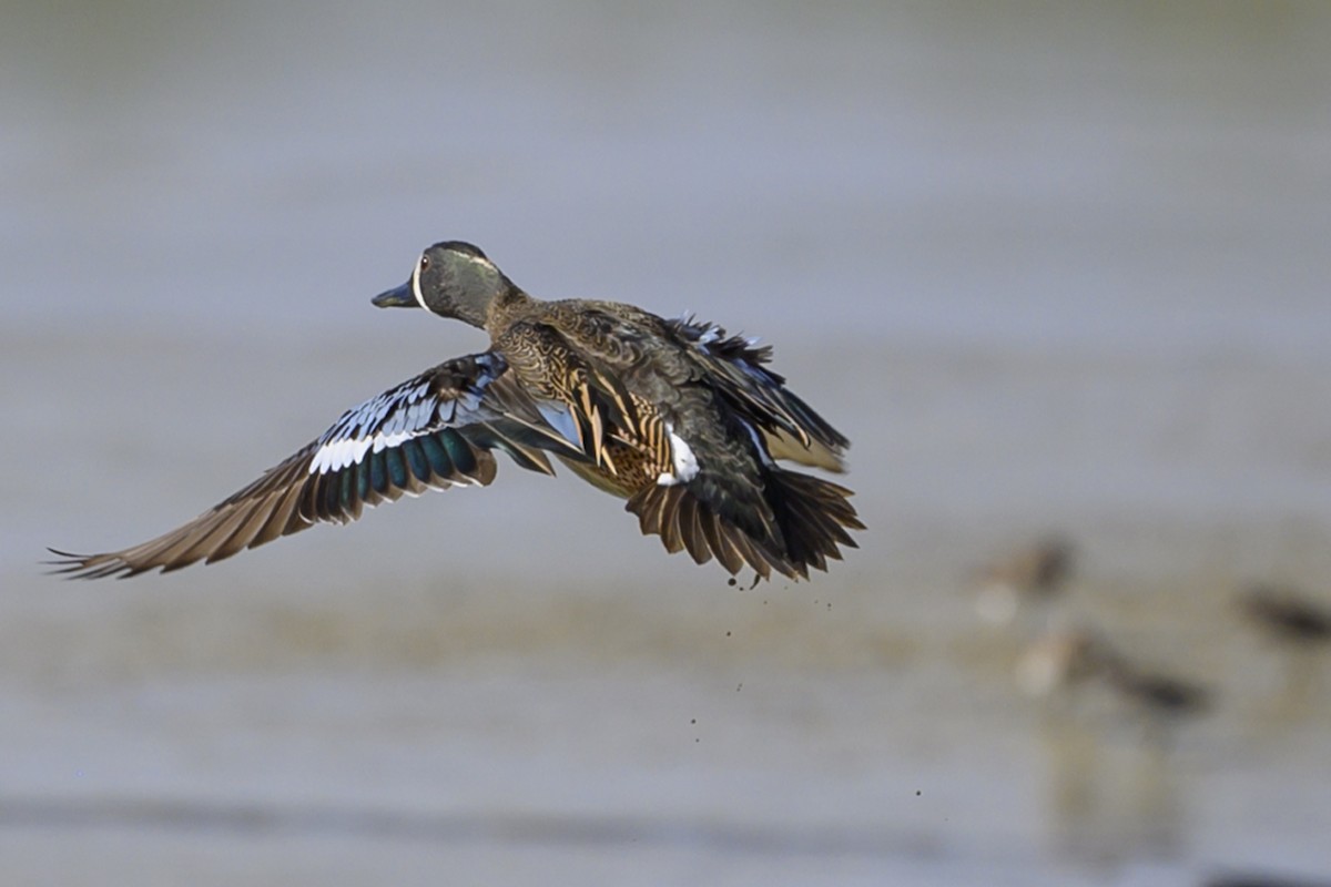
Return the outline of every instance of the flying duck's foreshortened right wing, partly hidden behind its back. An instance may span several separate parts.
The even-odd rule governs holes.
[[[773,459],[845,471],[851,442],[788,390],[784,376],[764,366],[772,359],[772,346],[728,336],[715,323],[697,323],[691,317],[667,320],[667,327],[692,346],[693,359],[703,364],[711,384],[759,428]]]

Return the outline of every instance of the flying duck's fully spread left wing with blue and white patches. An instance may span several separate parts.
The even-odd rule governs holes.
[[[554,473],[546,451],[584,459],[551,428],[495,352],[457,358],[347,410],[317,440],[262,477],[157,539],[102,555],[71,555],[61,569],[85,578],[134,576],[213,563],[317,523],[345,524],[365,505],[403,493],[487,485],[494,449]]]

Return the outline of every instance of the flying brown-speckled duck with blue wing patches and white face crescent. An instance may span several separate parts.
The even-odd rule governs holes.
[[[626,500],[643,535],[733,577],[807,580],[862,531],[851,489],[779,463],[840,473],[849,440],[771,368],[772,347],[692,315],[620,302],[542,301],[476,246],[442,241],[371,299],[488,334],[355,406],[322,435],[189,523],[116,552],[49,549],[85,578],[216,563],[315,524],[429,489],[484,487],[496,453],[554,475],[551,459]]]

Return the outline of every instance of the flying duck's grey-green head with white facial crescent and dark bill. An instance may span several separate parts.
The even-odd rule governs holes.
[[[512,281],[479,247],[443,241],[421,254],[406,283],[381,293],[373,302],[381,309],[421,307],[484,327],[490,305],[515,290]]]

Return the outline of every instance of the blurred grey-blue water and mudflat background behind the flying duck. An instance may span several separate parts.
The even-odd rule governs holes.
[[[0,105],[12,883],[1331,879],[1331,5],[11,0]],[[44,574],[483,348],[443,238],[772,342],[861,548],[502,461]]]

